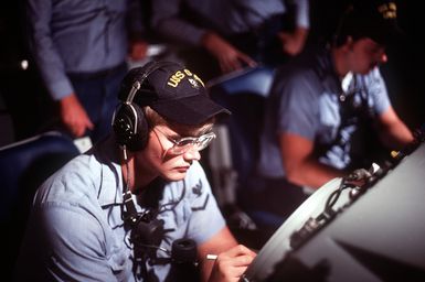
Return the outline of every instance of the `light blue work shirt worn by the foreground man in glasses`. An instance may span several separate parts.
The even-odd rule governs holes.
[[[100,143],[40,187],[17,264],[18,281],[144,281],[132,272],[134,246],[121,217],[121,167],[114,150],[114,144]],[[163,250],[170,251],[180,238],[199,246],[225,226],[198,162],[184,180],[164,186],[159,207],[157,218],[168,230],[160,243]],[[146,206],[136,208],[142,212]],[[162,250],[157,256],[170,257]],[[145,264],[159,281],[170,270],[170,264]]]

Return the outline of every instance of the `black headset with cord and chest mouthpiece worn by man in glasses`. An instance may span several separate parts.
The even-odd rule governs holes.
[[[123,80],[119,98],[121,102],[114,112],[111,126],[116,135],[116,142],[124,151],[124,159],[127,162],[127,150],[139,151],[148,143],[149,124],[145,117],[142,106],[134,102],[136,94],[149,95],[146,86],[146,79],[150,74],[164,66],[180,66],[174,62],[149,62],[142,67],[136,67],[129,70]],[[145,88],[142,89],[145,84]],[[128,175],[127,164],[127,175]],[[152,264],[184,264],[196,263],[196,243],[187,238],[181,238],[172,243],[172,249],[167,250],[160,247],[160,243],[168,231],[164,229],[164,221],[158,219],[159,208],[149,208],[145,213],[138,213],[129,189],[129,182],[126,181],[126,187],[123,193],[123,219],[131,229],[130,241],[135,246],[135,254],[149,259]],[[124,209],[125,208],[125,209]],[[156,251],[164,251],[168,258],[157,258]]]

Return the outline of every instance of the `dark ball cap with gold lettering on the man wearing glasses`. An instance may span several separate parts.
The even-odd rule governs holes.
[[[139,88],[129,97],[131,88]],[[189,126],[202,124],[215,116],[231,112],[213,101],[201,78],[174,62],[150,62],[129,70],[123,80],[119,99],[140,107],[149,106],[166,119]]]

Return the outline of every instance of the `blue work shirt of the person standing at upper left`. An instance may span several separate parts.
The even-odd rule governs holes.
[[[128,32],[142,30],[141,12],[128,10],[131,1],[28,1],[30,51],[53,99],[74,93],[67,73],[95,73],[125,63]]]

